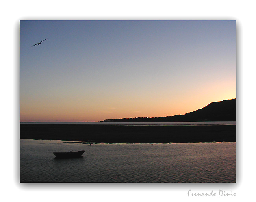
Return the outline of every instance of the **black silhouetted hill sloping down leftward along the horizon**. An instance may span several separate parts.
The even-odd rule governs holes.
[[[137,117],[106,119],[104,122],[183,122],[183,121],[235,121],[236,99],[212,102],[202,109],[169,117]]]

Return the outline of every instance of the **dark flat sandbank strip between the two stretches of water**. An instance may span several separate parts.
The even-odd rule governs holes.
[[[20,124],[20,139],[84,141],[86,143],[236,142],[236,125],[110,126]]]

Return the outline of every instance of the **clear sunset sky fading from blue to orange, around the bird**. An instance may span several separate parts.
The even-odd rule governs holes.
[[[232,98],[236,21],[20,21],[20,121],[165,117]]]

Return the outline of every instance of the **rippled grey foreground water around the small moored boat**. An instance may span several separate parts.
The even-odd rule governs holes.
[[[85,150],[82,158],[52,152]],[[236,182],[236,143],[93,144],[20,139],[20,182]]]

